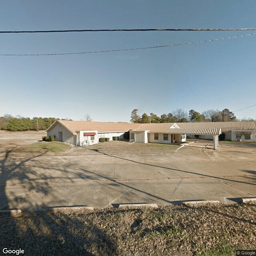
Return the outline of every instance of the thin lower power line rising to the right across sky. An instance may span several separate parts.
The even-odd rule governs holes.
[[[226,40],[226,39],[231,39],[231,38],[240,38],[240,37],[245,37],[245,36],[254,36],[254,35],[256,35],[256,33],[246,34],[246,35],[241,35],[241,36],[229,36],[226,38],[195,41],[195,42],[185,42],[185,43],[180,43],[180,44],[168,44],[168,45],[161,45],[161,46],[150,46],[150,47],[118,49],[118,50],[103,50],[103,51],[95,51],[95,52],[66,52],[66,53],[49,53],[49,54],[0,54],[0,56],[49,56],[49,55],[71,55],[71,54],[118,52],[118,51],[130,51],[130,50],[145,50],[145,49],[152,49],[152,48],[173,47],[173,46],[179,46],[179,45],[185,45],[185,44],[198,44],[198,43],[203,43],[203,42],[213,42],[213,41]]]

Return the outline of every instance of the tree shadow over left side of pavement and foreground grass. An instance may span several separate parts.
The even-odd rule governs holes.
[[[12,149],[1,157],[0,174],[0,210],[8,210],[18,204],[26,204],[27,208],[46,208],[43,202],[31,202],[27,193],[34,192],[42,195],[51,194],[52,187],[48,183],[49,177],[44,172],[46,152],[33,156],[16,157]],[[52,172],[61,171],[67,181],[79,178],[80,174],[72,177],[69,164],[61,168],[59,164],[52,164]],[[36,171],[36,168],[41,168]],[[45,167],[47,168],[47,167]],[[60,177],[59,177],[60,178]],[[62,177],[63,178],[63,177]],[[39,183],[38,183],[39,182]],[[18,193],[15,185],[24,186],[27,192]],[[26,185],[26,187],[25,187]],[[9,187],[13,187],[11,192]],[[8,191],[8,194],[6,194]],[[21,191],[20,191],[21,192]],[[33,195],[33,194],[32,194]],[[11,205],[11,206],[10,206]],[[86,219],[86,214],[84,219]],[[24,255],[114,255],[115,243],[105,234],[100,226],[87,220],[85,223],[65,212],[50,211],[22,211],[12,213],[0,212],[0,250],[24,250]]]

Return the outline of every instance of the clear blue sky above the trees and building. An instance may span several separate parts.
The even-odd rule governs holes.
[[[95,0],[0,3],[0,31],[256,28],[256,1]],[[0,54],[52,54],[163,46],[256,31],[0,34]],[[256,34],[173,47],[0,56],[0,116],[129,122],[134,108],[160,116],[228,108],[256,118]],[[246,108],[241,111],[242,108]]]

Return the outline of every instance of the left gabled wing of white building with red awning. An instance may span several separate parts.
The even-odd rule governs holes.
[[[129,130],[139,125],[131,123],[56,120],[46,130],[46,133],[48,136],[54,135],[57,141],[82,146],[84,144],[97,144],[99,138],[109,138],[109,140],[112,140],[113,137],[118,137],[122,139],[126,134],[129,136]]]

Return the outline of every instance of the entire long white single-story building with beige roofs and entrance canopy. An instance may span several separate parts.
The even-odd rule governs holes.
[[[213,139],[214,149],[217,149],[219,136],[225,140],[256,141],[256,122],[131,124],[56,120],[46,132],[58,141],[76,146],[96,144],[99,138],[112,140],[113,137],[129,138],[132,142],[171,144],[199,135]]]

